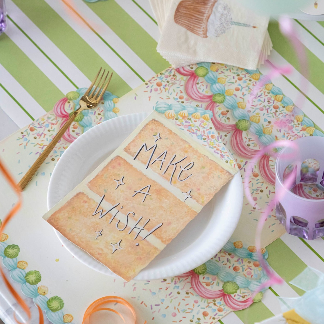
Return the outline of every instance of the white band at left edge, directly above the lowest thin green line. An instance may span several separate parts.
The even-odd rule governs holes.
[[[13,97],[30,113],[33,118],[38,118],[46,113],[40,104],[16,81],[16,79],[0,64],[0,82]],[[3,107],[4,109],[5,107]],[[9,115],[9,114],[8,114]],[[15,121],[16,122],[16,121]],[[26,126],[16,122],[19,127]]]

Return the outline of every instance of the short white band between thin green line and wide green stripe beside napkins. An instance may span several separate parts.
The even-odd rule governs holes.
[[[160,31],[152,19],[147,17],[132,0],[115,0],[156,42],[159,41]]]

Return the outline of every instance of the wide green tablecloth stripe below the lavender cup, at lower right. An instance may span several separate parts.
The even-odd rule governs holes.
[[[267,246],[269,253],[268,262],[275,272],[289,284],[307,265],[278,238]],[[298,295],[303,295],[304,291],[289,284]]]

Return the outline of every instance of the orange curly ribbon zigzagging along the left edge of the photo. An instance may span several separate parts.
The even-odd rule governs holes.
[[[6,217],[4,218],[1,226],[0,226],[0,234],[4,232],[4,229],[6,227],[6,225],[8,224],[8,222],[11,220],[11,218],[18,212],[18,210],[21,208],[21,202],[22,202],[22,198],[21,198],[21,192],[18,190],[17,185],[15,183],[15,180],[12,178],[12,176],[10,175],[9,171],[6,169],[6,167],[4,166],[4,164],[0,161],[0,171],[3,173],[5,179],[8,181],[8,183],[10,184],[10,186],[16,191],[17,196],[18,196],[18,201],[17,203],[11,208],[11,210],[8,212],[8,214],[6,215]],[[23,309],[23,311],[26,313],[28,320],[30,321],[31,319],[31,313],[30,313],[30,309],[27,306],[27,304],[24,302],[24,300],[20,297],[20,295],[17,293],[17,291],[14,289],[14,287],[9,283],[8,279],[6,278],[5,273],[2,270],[2,267],[0,266],[0,273],[1,273],[1,277],[2,280],[4,281],[6,287],[8,288],[9,292],[11,293],[11,295],[15,298],[15,300],[17,301],[17,304]],[[38,312],[39,312],[39,324],[44,324],[44,318],[43,318],[43,313],[41,311],[41,307],[39,307],[38,305],[36,305],[38,308]],[[16,320],[16,322],[18,324],[23,324],[21,322],[19,322],[16,318],[16,314],[14,313],[14,318]]]

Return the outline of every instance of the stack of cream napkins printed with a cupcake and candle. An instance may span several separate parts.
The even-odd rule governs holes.
[[[157,51],[174,67],[218,62],[256,69],[272,42],[269,17],[238,0],[150,0],[161,31]]]

